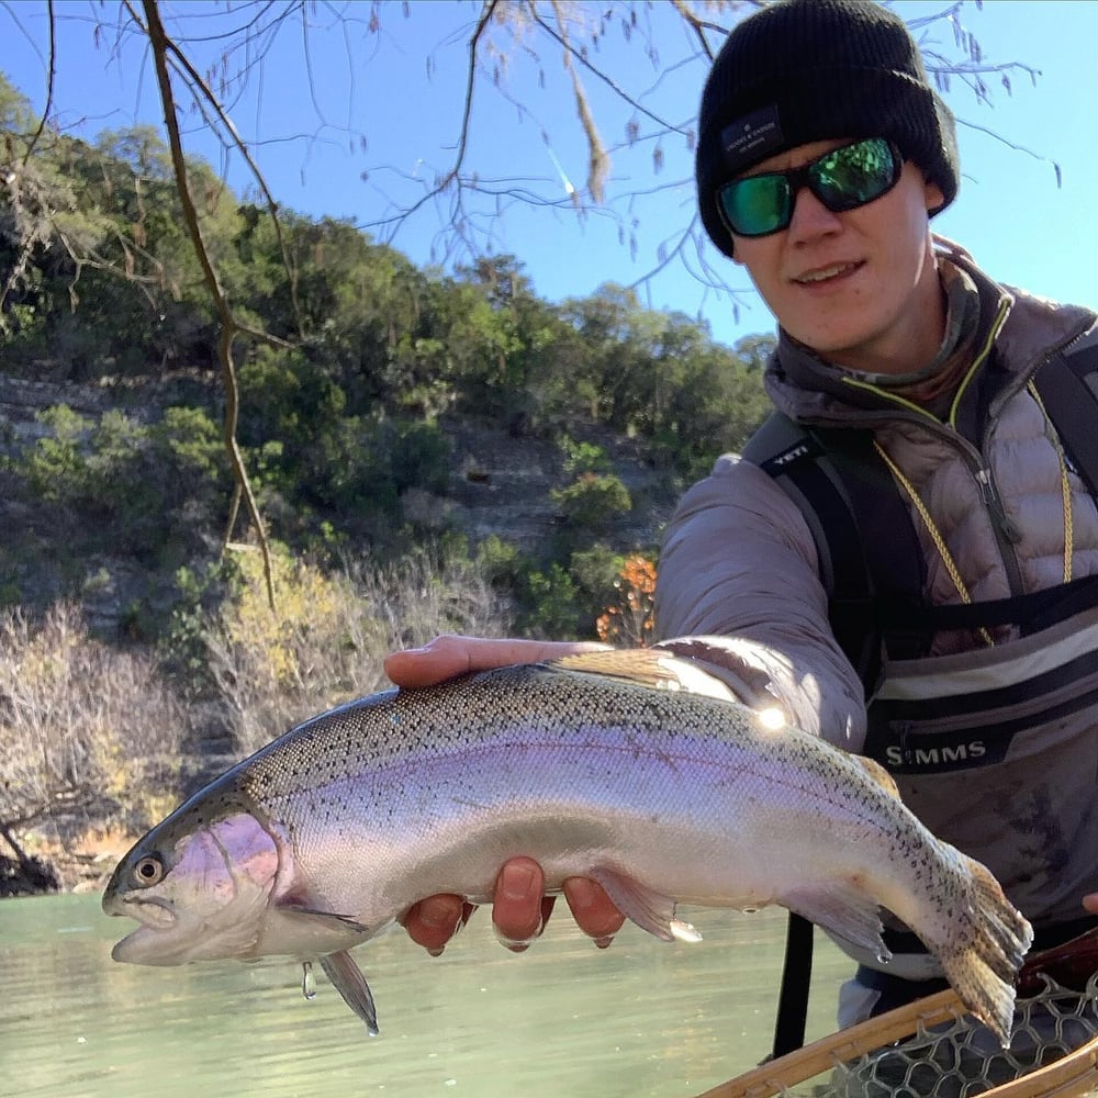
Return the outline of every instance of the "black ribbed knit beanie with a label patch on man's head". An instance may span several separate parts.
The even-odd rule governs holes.
[[[717,188],[797,145],[887,137],[956,197],[953,114],[904,21],[872,0],[777,0],[735,26],[702,92],[695,178],[710,239],[732,254]]]

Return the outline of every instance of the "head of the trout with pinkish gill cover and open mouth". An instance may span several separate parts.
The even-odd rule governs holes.
[[[279,847],[250,813],[220,818],[184,805],[122,859],[103,910],[141,926],[111,953],[173,965],[255,955],[279,871]]]

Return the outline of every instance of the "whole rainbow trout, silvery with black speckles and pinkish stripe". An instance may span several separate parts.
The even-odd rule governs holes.
[[[664,941],[699,937],[680,901],[781,904],[886,959],[886,908],[1006,1044],[1032,932],[991,874],[876,764],[694,692],[691,674],[712,682],[656,650],[569,657],[306,720],[126,854],[103,909],[141,926],[113,956],[288,955],[306,981],[320,961],[377,1032],[348,950],[424,896],[489,900],[503,862],[528,854],[550,888],[593,877]]]

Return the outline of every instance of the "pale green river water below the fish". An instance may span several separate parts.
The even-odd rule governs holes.
[[[596,950],[558,911],[514,955],[486,911],[441,957],[403,933],[356,951],[381,1035],[317,968],[116,964],[133,926],[99,897],[0,900],[0,1095],[47,1098],[670,1098],[749,1069],[770,1046],[784,912],[684,910],[705,935],[626,927]],[[817,935],[809,1037],[833,1029],[849,972]]]

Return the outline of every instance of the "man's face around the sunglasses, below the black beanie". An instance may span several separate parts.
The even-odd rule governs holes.
[[[746,175],[800,167],[844,144],[799,145]],[[832,213],[805,188],[788,228],[733,236],[736,260],[782,327],[828,361],[906,373],[926,366],[943,336],[928,215],[942,202],[910,161],[890,191],[856,210]]]

